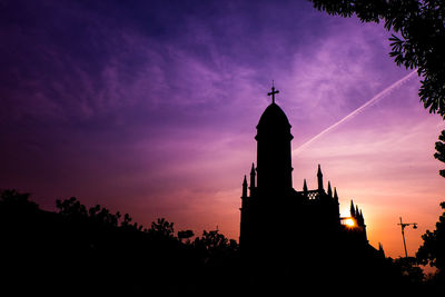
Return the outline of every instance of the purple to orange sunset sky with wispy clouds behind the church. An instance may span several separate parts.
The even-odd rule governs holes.
[[[445,200],[433,157],[445,125],[389,36],[303,0],[0,0],[0,188],[237,239],[274,80],[294,188],[316,188],[320,164],[342,216],[354,199],[387,256],[404,254],[399,217],[417,222],[414,255]]]

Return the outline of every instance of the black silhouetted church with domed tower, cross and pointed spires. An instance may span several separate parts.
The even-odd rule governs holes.
[[[336,283],[354,271],[355,284],[375,279],[385,255],[382,246],[368,244],[363,212],[350,201],[350,217],[340,217],[337,189],[324,186],[318,165],[318,187],[293,187],[290,123],[275,102],[279,91],[271,87],[271,103],[257,125],[257,162],[250,182],[243,181],[240,255],[257,283],[275,280],[299,284]],[[377,265],[377,266],[376,266]],[[263,279],[259,280],[258,279]]]

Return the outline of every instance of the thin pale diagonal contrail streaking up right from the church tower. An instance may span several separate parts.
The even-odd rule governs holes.
[[[387,95],[389,95],[392,91],[396,90],[397,88],[399,88],[402,85],[404,85],[405,82],[409,81],[413,77],[415,77],[417,75],[417,70],[414,70],[413,72],[411,72],[409,75],[403,77],[402,79],[397,80],[396,82],[394,82],[393,85],[390,85],[389,87],[387,87],[386,89],[384,89],[383,91],[380,91],[379,93],[377,93],[376,96],[374,96],[369,101],[367,101],[366,103],[364,103],[363,106],[360,106],[359,108],[357,108],[356,110],[354,110],[353,112],[350,112],[349,115],[347,115],[346,117],[344,117],[343,119],[340,119],[339,121],[337,121],[336,123],[332,125],[330,127],[326,128],[325,130],[323,130],[322,132],[319,132],[318,135],[314,136],[313,138],[310,138],[309,140],[307,140],[305,143],[303,143],[301,146],[299,146],[298,148],[293,150],[293,155],[298,155],[300,154],[303,150],[305,150],[312,142],[314,142],[315,140],[317,140],[318,138],[320,138],[322,136],[330,132],[332,130],[334,130],[336,127],[338,127],[339,125],[342,125],[343,122],[347,121],[348,119],[352,119],[353,117],[355,117],[358,112],[360,112],[362,110],[364,110],[365,108],[372,106],[373,103],[376,103],[378,101],[380,101],[382,99],[384,99]]]

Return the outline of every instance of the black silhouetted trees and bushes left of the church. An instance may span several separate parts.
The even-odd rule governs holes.
[[[75,197],[57,200],[57,212],[29,197],[0,192],[2,283],[18,296],[207,296],[220,281],[239,283],[237,242],[218,231],[190,242],[191,230],[176,237],[165,218],[144,229],[128,214],[87,208]]]

